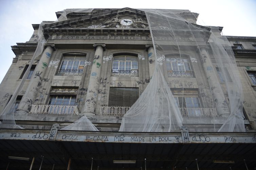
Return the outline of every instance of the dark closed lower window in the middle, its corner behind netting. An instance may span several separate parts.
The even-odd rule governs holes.
[[[110,87],[109,106],[132,106],[139,98],[139,88]]]

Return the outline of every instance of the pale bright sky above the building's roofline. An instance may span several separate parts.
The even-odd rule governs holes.
[[[256,37],[256,0],[0,0],[0,82],[15,57],[11,46],[29,41],[31,24],[56,21],[67,8],[188,9],[199,25],[223,26],[225,36]]]

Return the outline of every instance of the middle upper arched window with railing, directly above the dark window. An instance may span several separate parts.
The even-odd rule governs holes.
[[[138,57],[134,54],[114,55],[112,76],[138,76]]]

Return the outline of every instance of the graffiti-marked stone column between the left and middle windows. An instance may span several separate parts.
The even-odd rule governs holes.
[[[83,114],[85,115],[95,115],[95,108],[98,99],[98,88],[100,81],[100,72],[103,59],[103,50],[105,44],[93,44],[95,48],[94,60],[92,63],[92,69],[90,73],[89,85],[85,100],[85,107]]]

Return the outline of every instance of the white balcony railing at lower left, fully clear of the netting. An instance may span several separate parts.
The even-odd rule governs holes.
[[[76,105],[32,105],[30,113],[34,114],[76,114]]]

